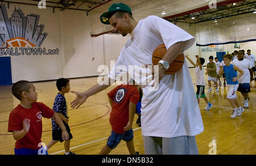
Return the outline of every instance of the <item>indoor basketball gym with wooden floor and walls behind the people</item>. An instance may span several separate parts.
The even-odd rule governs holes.
[[[52,108],[58,92],[56,79],[61,77],[69,78],[72,91],[84,92],[88,90],[97,83],[97,75],[108,74],[106,70],[103,73],[102,71],[97,71],[97,67],[105,65],[111,68],[113,65],[111,61],[118,58],[122,46],[129,39],[129,37],[122,37],[112,32],[111,27],[104,27],[98,23],[100,22],[100,14],[108,10],[110,5],[119,2],[126,3],[127,1],[104,2],[93,0],[92,2],[94,3],[92,4],[76,1],[71,3],[68,1],[52,0],[50,2],[47,3],[46,9],[43,9],[45,11],[38,11],[38,2],[2,2],[2,5],[5,5],[1,9],[2,18],[10,18],[11,20],[12,14],[16,14],[22,20],[24,18],[22,16],[25,15],[30,22],[24,21],[23,25],[27,23],[28,26],[35,23],[36,26],[31,32],[25,32],[23,29],[20,31],[20,34],[23,33],[20,36],[18,33],[12,33],[13,35],[10,35],[9,39],[7,39],[7,36],[1,37],[0,44],[2,45],[2,50],[0,60],[1,58],[7,59],[9,65],[7,65],[6,69],[3,68],[3,70],[5,74],[10,73],[11,76],[6,74],[5,76],[8,80],[0,86],[0,155],[14,155],[15,140],[12,133],[7,132],[9,114],[19,104],[19,100],[11,93],[13,83],[18,80],[33,82],[38,92],[38,102],[42,102]],[[255,1],[217,1],[217,5],[222,6],[222,8],[218,8],[216,11],[209,11],[209,7],[208,9],[204,8],[208,6],[210,1],[207,3],[200,0],[194,2],[171,2],[133,0],[127,2],[127,5],[130,5],[131,9],[134,10],[134,15],[137,15],[135,19],[137,20],[145,18],[146,15],[158,15],[180,26],[188,33],[191,33],[192,36],[197,37],[199,40],[196,40],[192,48],[184,53],[188,54],[189,58],[194,62],[196,54],[204,57],[205,62],[208,61],[210,55],[218,57],[222,56],[224,52],[233,53],[234,50],[240,49],[244,49],[245,52],[247,49],[251,49],[251,53],[256,54],[256,41],[251,40],[256,39],[254,38],[256,37],[255,22],[253,23],[253,21],[249,20],[249,18],[254,18],[256,14],[254,9],[250,9],[250,12],[247,12],[248,8],[256,7]],[[183,7],[184,4],[187,4],[185,8]],[[79,10],[76,11],[77,6],[79,6]],[[241,15],[234,14],[226,17],[223,15],[219,18],[216,17],[218,25],[216,24],[217,22],[214,22],[214,17],[211,18],[214,12],[216,15],[221,15],[221,11],[228,11],[230,8],[232,10],[239,9],[238,6],[240,6],[241,13],[244,12]],[[145,12],[142,12],[143,8],[146,8]],[[166,14],[163,14],[163,11]],[[35,14],[40,15],[40,20]],[[205,14],[208,14],[208,16]],[[54,17],[51,17],[51,15],[54,15]],[[191,19],[192,16],[196,18]],[[233,23],[239,24],[241,20],[243,20],[242,24],[245,25],[244,28],[249,28],[249,30],[239,31],[246,33],[246,39],[240,38],[242,35],[230,37],[231,33],[227,36],[244,42],[204,45],[207,41],[211,43],[209,42],[210,40],[217,42],[216,37],[218,36],[214,36],[217,34],[214,32],[214,26],[221,27],[226,24],[223,31],[225,33],[228,29],[232,28]],[[87,22],[90,22],[90,24],[85,25]],[[247,25],[247,22],[250,22],[250,24]],[[12,31],[11,27],[9,27],[12,23],[11,21],[6,23],[7,27],[0,28],[1,32],[7,34],[3,29],[7,29],[9,32]],[[209,23],[211,28],[204,27],[205,23]],[[56,28],[56,26],[59,28]],[[20,27],[22,27],[22,24],[20,24]],[[241,28],[241,25],[237,25],[237,28]],[[208,30],[210,35],[207,33]],[[13,32],[16,31],[13,30]],[[209,35],[208,39],[204,40],[205,36],[203,35]],[[219,42],[222,42],[222,39]],[[189,64],[188,61],[187,63]],[[190,64],[189,67],[194,91],[196,92],[195,68]],[[1,67],[0,69],[2,70]],[[213,107],[205,111],[204,109],[207,107],[207,104],[203,99],[200,99],[199,107],[203,118],[204,131],[196,135],[199,154],[256,155],[256,81],[253,80],[250,83],[249,108],[245,108],[245,112],[240,117],[233,119],[230,118],[232,107],[226,99],[228,88],[223,86],[223,78],[221,78],[222,85],[219,87],[220,90],[218,92],[214,92],[214,88],[212,92],[207,92],[209,89],[207,75],[204,75],[204,78],[206,82],[205,95]],[[72,109],[70,106],[76,95],[71,92],[65,94],[68,104],[69,126],[73,135],[71,140],[72,152],[78,155],[97,155],[101,148],[105,146],[111,133],[111,126],[109,124],[111,107],[107,93],[116,86],[110,86],[106,90],[90,96],[79,109]],[[240,104],[242,104],[243,98],[241,93],[236,93]],[[136,120],[137,115],[135,114],[133,122],[135,151],[138,151],[139,154],[144,154],[141,127],[136,124]],[[43,118],[42,142],[47,144],[51,139],[51,119]],[[56,143],[49,149],[48,153],[49,155],[63,155],[64,143]],[[127,150],[126,143],[121,141],[110,154],[128,155],[129,151]]]

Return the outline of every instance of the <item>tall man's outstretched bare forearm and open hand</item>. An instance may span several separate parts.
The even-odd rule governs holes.
[[[96,84],[95,86],[93,86],[92,88],[90,88],[89,90],[85,91],[85,92],[76,92],[76,91],[71,91],[72,93],[76,94],[76,99],[73,100],[71,102],[71,107],[72,108],[79,108],[88,97],[95,95],[98,92],[101,92],[103,90],[105,90],[106,88],[108,88],[110,86],[111,82],[115,82],[113,79],[109,79],[109,84]],[[104,81],[104,78],[102,78],[102,81]]]

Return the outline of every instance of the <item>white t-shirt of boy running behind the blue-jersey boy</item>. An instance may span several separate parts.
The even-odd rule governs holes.
[[[232,64],[236,65],[244,72],[243,75],[240,78],[238,78],[238,83],[250,83],[250,71],[249,71],[249,69],[251,69],[250,61],[245,58],[242,61],[239,61],[238,59],[234,59],[234,61],[232,61]],[[239,74],[240,72],[237,71],[237,75]]]

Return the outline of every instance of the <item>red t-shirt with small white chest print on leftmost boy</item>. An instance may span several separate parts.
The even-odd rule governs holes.
[[[24,118],[30,119],[30,130],[15,143],[15,149],[30,148],[37,150],[42,137],[42,117],[51,118],[54,111],[43,103],[32,103],[30,109],[23,108],[20,104],[14,108],[9,116],[8,132],[23,129]]]

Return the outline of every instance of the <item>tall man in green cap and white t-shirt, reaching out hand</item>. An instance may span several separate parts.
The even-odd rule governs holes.
[[[114,3],[100,19],[122,36],[131,35],[108,75],[109,81],[121,73],[118,66],[125,71],[130,65],[152,64],[154,49],[160,44],[166,45],[167,52],[158,64],[158,89],[150,91],[152,86],[143,87],[141,125],[145,154],[199,154],[195,135],[200,134],[204,126],[187,62],[184,61],[177,73],[164,74],[169,64],[192,46],[194,37],[158,16],[148,16],[137,22],[130,7],[124,3]],[[136,76],[131,75],[135,81]],[[107,87],[109,84],[96,84],[83,93],[74,92],[76,99],[71,107],[80,107],[89,96]]]

